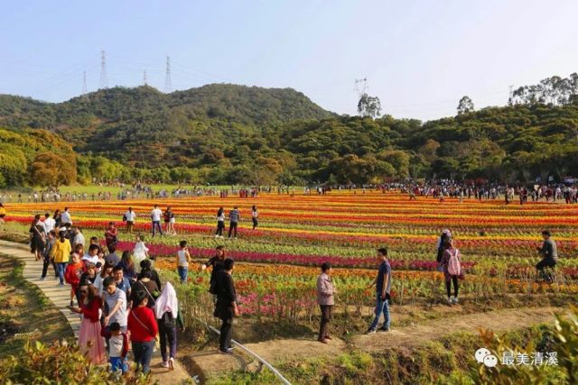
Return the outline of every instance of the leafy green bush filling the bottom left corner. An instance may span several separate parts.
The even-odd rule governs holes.
[[[89,362],[76,345],[28,343],[0,362],[3,383],[11,384],[146,384],[150,379],[118,377],[107,366]]]

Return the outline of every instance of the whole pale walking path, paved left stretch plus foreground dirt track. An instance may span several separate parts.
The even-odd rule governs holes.
[[[67,308],[70,302],[70,288],[59,287],[57,281],[52,279],[50,270],[47,280],[41,281],[39,277],[42,271],[42,261],[34,261],[33,254],[27,246],[0,240],[0,252],[13,255],[25,262],[24,278],[42,289],[52,303],[67,317],[75,335],[78,334],[79,316],[72,314]],[[460,307],[456,306],[456,308]],[[350,349],[359,349],[368,353],[383,352],[387,348],[411,349],[456,332],[477,333],[480,328],[488,328],[495,332],[517,330],[530,325],[554,322],[555,312],[564,312],[564,308],[518,307],[467,315],[457,313],[430,321],[421,321],[418,325],[396,328],[394,311],[392,314],[394,325],[389,333],[355,335],[350,344],[334,338],[330,344],[319,344],[314,340],[305,339],[284,339],[245,344],[245,346],[273,364],[308,358],[334,358]],[[159,380],[162,384],[180,384],[183,380],[191,378],[178,362],[175,362],[175,370],[172,372],[161,368],[160,363],[160,355],[156,353],[152,362],[152,371],[154,380]],[[229,371],[256,369],[256,362],[252,358],[239,353],[231,356],[222,355],[218,354],[216,349],[189,354],[185,357],[185,363],[190,371],[199,373],[202,379],[223,375]]]

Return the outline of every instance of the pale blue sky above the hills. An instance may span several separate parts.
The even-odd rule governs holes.
[[[355,80],[382,113],[428,120],[505,105],[510,86],[578,71],[575,0],[3,1],[0,94],[61,102],[100,84],[292,87],[355,115]]]

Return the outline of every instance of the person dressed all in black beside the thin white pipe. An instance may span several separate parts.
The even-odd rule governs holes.
[[[233,317],[239,316],[235,282],[231,276],[235,261],[230,258],[223,262],[223,270],[217,276],[217,303],[214,316],[221,320],[219,335],[219,353],[232,354],[231,336]]]

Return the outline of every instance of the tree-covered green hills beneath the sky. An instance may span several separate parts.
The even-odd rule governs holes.
[[[69,142],[81,155],[80,181],[302,184],[412,177],[532,183],[538,177],[559,181],[578,170],[575,97],[548,105],[530,98],[422,123],[337,116],[292,89],[211,85],[164,95],[152,87],[112,88],[61,104],[0,96],[0,127],[28,136],[30,128],[46,129],[56,135],[51,142]],[[6,149],[0,148],[5,185],[51,170],[42,168],[48,159],[42,149],[23,151],[26,160],[12,159],[14,151]],[[42,158],[34,174],[31,156]],[[16,178],[17,172],[23,175]]]

